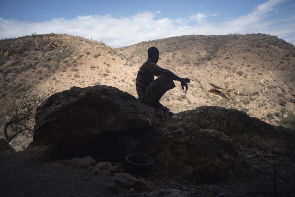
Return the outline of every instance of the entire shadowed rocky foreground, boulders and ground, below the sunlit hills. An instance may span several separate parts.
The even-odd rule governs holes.
[[[99,85],[36,113],[25,151],[0,140],[3,196],[295,196],[295,131],[236,109],[173,115]],[[150,155],[151,172],[136,174],[130,153]]]

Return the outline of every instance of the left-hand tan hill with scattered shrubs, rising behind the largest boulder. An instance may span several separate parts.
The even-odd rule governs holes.
[[[134,88],[133,69],[104,43],[66,34],[45,34],[1,40],[0,51],[1,135],[8,107],[5,98],[28,86],[55,92],[96,84],[128,92]],[[29,141],[16,140],[20,144],[26,142],[21,150]]]

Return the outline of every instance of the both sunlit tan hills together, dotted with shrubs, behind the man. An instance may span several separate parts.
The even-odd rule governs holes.
[[[187,92],[176,82],[162,98],[172,112],[208,105],[276,119],[272,124],[283,115],[294,118],[295,48],[266,34],[190,35],[116,49],[67,34],[1,40],[0,114],[7,108],[4,98],[30,85],[59,92],[104,84],[137,97],[136,74],[150,46],[160,50],[159,66],[192,80]],[[2,116],[0,125],[5,121]]]

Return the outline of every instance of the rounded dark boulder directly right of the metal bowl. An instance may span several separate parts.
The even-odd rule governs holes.
[[[245,164],[231,140],[222,132],[201,129],[195,123],[176,123],[162,131],[156,160],[200,182],[214,182],[233,175]]]

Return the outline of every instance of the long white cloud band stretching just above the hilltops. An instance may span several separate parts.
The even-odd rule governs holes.
[[[254,7],[253,11],[225,22],[209,23],[215,14],[197,12],[188,18],[169,19],[157,12],[139,12],[129,17],[112,15],[78,16],[77,18],[53,18],[46,22],[6,20],[0,18],[0,39],[51,32],[78,35],[105,42],[112,47],[126,46],[156,38],[190,34],[247,34],[266,33],[277,35],[295,44],[295,15],[288,19],[268,20],[267,15],[282,0],[270,0]]]

